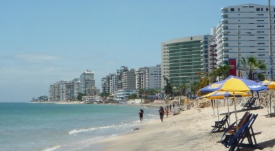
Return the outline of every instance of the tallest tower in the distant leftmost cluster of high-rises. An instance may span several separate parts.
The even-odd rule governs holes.
[[[91,86],[95,86],[95,83],[92,82],[94,80],[94,71],[85,71],[80,75],[80,86],[79,86],[79,92],[85,94],[86,93],[86,85],[87,80],[90,80],[89,84],[92,84]],[[94,84],[94,85],[93,85]],[[90,86],[90,85],[89,85]]]

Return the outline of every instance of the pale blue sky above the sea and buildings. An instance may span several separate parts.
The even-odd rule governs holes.
[[[50,84],[161,64],[161,43],[211,34],[221,8],[268,0],[0,0],[0,102],[30,102]],[[271,5],[275,5],[272,1]]]

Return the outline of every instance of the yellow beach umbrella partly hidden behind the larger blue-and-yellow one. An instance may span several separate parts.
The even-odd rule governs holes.
[[[235,92],[235,97],[248,97],[252,96],[248,93],[244,92]],[[209,93],[207,95],[203,95],[203,98],[208,98],[208,99],[223,99],[227,98],[228,102],[228,97],[233,97],[233,92],[230,91],[214,91],[212,93]],[[217,111],[218,111],[218,120],[219,120],[219,105],[217,105]],[[229,116],[229,106],[228,106],[228,116]]]

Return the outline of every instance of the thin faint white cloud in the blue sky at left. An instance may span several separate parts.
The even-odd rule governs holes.
[[[45,61],[45,60],[57,60],[61,59],[61,57],[53,56],[53,55],[47,55],[47,54],[39,54],[39,53],[30,53],[30,54],[16,54],[15,58],[19,58],[25,61],[30,62],[39,62],[39,61]]]

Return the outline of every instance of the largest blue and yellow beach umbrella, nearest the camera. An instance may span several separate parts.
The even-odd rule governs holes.
[[[210,84],[209,86],[206,86],[203,89],[200,89],[199,91],[200,92],[232,91],[233,97],[234,97],[236,125],[238,125],[238,121],[236,117],[236,101],[235,101],[234,92],[249,92],[249,91],[263,91],[263,90],[268,90],[268,88],[252,80],[243,79],[243,78],[236,77],[234,75],[230,75],[225,80],[216,82],[214,84]],[[238,126],[236,126],[236,131],[238,131]]]

